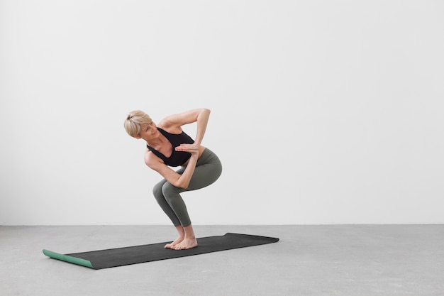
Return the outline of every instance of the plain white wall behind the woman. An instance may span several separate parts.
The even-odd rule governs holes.
[[[443,9],[0,1],[0,224],[170,224],[123,120],[201,106],[194,224],[444,223]]]

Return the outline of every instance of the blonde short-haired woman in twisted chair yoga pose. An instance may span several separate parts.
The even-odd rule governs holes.
[[[197,190],[215,182],[222,172],[221,161],[201,146],[210,115],[209,109],[194,109],[162,119],[157,126],[143,111],[132,111],[125,121],[126,132],[147,143],[145,164],[164,179],[155,185],[157,203],[170,217],[179,237],[165,248],[184,250],[197,246],[192,222],[181,192]],[[196,122],[193,140],[182,131],[184,124]],[[180,166],[174,171],[170,167]]]

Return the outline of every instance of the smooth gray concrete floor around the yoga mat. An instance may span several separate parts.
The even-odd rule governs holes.
[[[195,226],[278,243],[92,270],[60,253],[174,239],[172,226],[0,226],[0,295],[443,296],[444,225]]]

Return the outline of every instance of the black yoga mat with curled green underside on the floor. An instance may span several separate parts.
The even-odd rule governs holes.
[[[199,246],[189,250],[172,250],[164,248],[165,243],[152,243],[143,246],[129,246],[124,248],[110,248],[107,250],[89,251],[83,253],[60,254],[48,250],[43,253],[61,261],[83,265],[93,269],[111,268],[135,263],[145,263],[171,258],[193,256],[204,253],[230,250],[233,248],[245,248],[266,243],[276,243],[277,238],[267,236],[253,236],[250,234],[232,234],[223,236],[208,236],[197,239]]]

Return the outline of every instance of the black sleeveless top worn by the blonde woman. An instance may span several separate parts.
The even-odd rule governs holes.
[[[162,128],[157,128],[160,133],[162,133],[165,138],[170,141],[172,145],[172,153],[169,158],[167,158],[165,155],[160,153],[159,151],[155,150],[155,148],[152,148],[147,145],[147,148],[150,149],[152,153],[154,153],[158,158],[163,160],[165,165],[170,165],[172,167],[177,167],[179,165],[183,165],[184,163],[189,160],[189,158],[192,156],[192,153],[184,152],[184,151],[176,151],[174,148],[177,146],[180,146],[180,144],[192,144],[194,143],[194,140],[187,135],[184,131],[182,133],[168,133],[167,131],[164,131]]]

